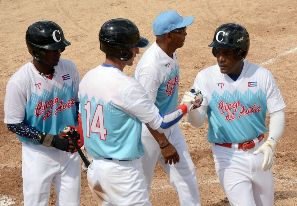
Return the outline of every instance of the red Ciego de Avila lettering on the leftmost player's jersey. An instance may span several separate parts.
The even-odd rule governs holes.
[[[60,101],[59,97],[52,98],[49,101],[42,101],[40,100],[35,108],[35,115],[36,117],[41,116],[43,113],[45,113],[42,116],[42,120],[45,121],[48,117],[52,116],[52,110],[55,104],[58,104],[58,107],[55,108],[54,116],[57,115],[58,112],[61,112],[65,109],[70,109],[72,105],[75,105],[75,98],[69,99],[66,103],[63,104],[63,100]]]

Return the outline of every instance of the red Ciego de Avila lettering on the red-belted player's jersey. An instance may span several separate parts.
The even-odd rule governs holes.
[[[234,101],[233,103],[224,102],[223,100],[219,101],[218,103],[218,109],[219,112],[223,115],[225,112],[227,112],[227,115],[225,116],[226,121],[230,122],[236,118],[236,112],[237,109],[241,107],[241,110],[238,113],[238,119],[242,117],[242,115],[247,116],[249,114],[253,114],[254,112],[260,112],[261,106],[257,106],[254,104],[253,106],[250,106],[248,109],[245,108],[245,105],[241,106],[240,101]],[[233,110],[233,112],[231,112]]]

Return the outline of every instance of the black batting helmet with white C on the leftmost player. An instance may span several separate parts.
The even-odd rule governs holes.
[[[37,21],[30,25],[26,32],[26,44],[29,53],[36,60],[41,60],[45,53],[40,49],[57,50],[61,52],[71,43],[64,37],[61,27],[52,21]]]

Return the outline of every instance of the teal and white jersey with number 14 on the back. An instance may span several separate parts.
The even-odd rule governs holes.
[[[141,122],[157,129],[163,118],[138,81],[103,64],[86,73],[78,95],[84,146],[92,157],[131,160],[144,155]]]

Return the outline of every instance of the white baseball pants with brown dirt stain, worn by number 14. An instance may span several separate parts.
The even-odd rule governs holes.
[[[150,206],[140,159],[93,158],[88,184],[98,205]]]

